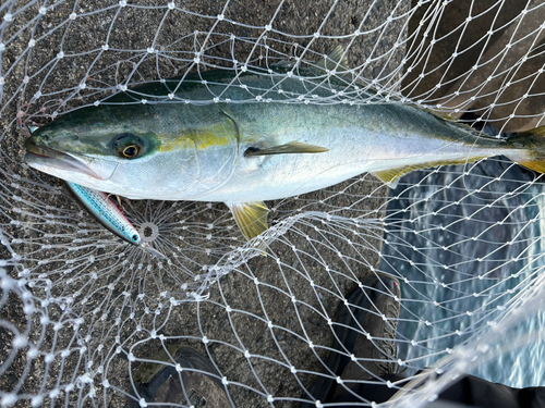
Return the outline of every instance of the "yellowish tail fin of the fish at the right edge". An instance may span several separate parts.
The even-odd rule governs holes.
[[[545,126],[521,132],[510,137],[508,143],[522,151],[522,154],[514,153],[509,159],[534,172],[545,173]]]

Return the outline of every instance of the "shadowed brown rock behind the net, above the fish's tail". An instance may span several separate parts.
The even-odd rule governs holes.
[[[504,132],[544,125],[544,20],[543,0],[457,0],[440,12],[434,2],[419,8],[409,27],[412,72],[403,78],[403,94],[458,109],[455,116],[473,112]]]

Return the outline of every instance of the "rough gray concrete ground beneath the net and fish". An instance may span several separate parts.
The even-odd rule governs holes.
[[[275,406],[293,406],[293,398],[308,398],[304,387],[312,382],[313,372],[322,371],[320,361],[332,343],[327,320],[334,319],[342,296],[378,262],[379,224],[361,227],[323,222],[317,217],[302,219],[271,245],[268,257],[255,257],[237,267],[211,286],[206,299],[187,301],[184,284],[206,272],[203,265],[226,263],[221,255],[243,244],[225,207],[123,201],[136,226],[145,226],[144,222],[158,226],[157,239],[162,239],[171,257],[171,263],[159,267],[156,260],[112,238],[81,211],[58,181],[22,164],[24,125],[44,123],[55,112],[61,114],[104,98],[118,85],[180,75],[204,44],[207,57],[202,62],[209,65],[232,66],[233,58],[264,63],[265,49],[254,49],[255,40],[250,39],[259,37],[270,46],[268,55],[278,59],[303,53],[312,61],[343,45],[350,66],[365,78],[391,86],[399,76],[390,74],[399,70],[403,58],[402,47],[393,52],[392,47],[404,38],[407,21],[385,21],[390,14],[407,12],[408,1],[348,0],[332,7],[326,0],[234,0],[228,5],[199,0],[175,2],[168,13],[167,2],[157,10],[156,1],[131,1],[124,8],[117,2],[85,1],[60,3],[44,16],[38,15],[41,3],[29,3],[20,13],[14,11],[21,4],[14,4],[0,11],[0,17],[14,14],[2,32],[0,171],[5,196],[0,217],[3,234],[22,258],[7,246],[1,258],[9,260],[12,276],[26,275],[35,283],[29,290],[36,299],[52,301],[37,304],[32,318],[24,314],[24,301],[16,296],[1,310],[1,318],[13,320],[22,332],[32,326],[29,342],[43,351],[29,360],[27,348],[10,348],[13,332],[0,333],[4,341],[1,357],[15,356],[12,375],[0,379],[2,390],[13,390],[20,378],[22,392],[31,395],[40,390],[46,394],[60,384],[55,405],[66,401],[75,406],[80,398],[80,404],[89,406],[89,397],[63,391],[63,384],[87,371],[94,373],[96,404],[122,407],[125,395],[116,390],[129,390],[129,368],[165,345],[182,343],[211,358],[231,382],[228,391],[239,407],[268,406],[268,395],[276,398]],[[72,13],[74,20],[70,20]],[[220,14],[222,18],[217,17]],[[271,29],[265,33],[268,24]],[[354,37],[356,29],[363,34]],[[209,30],[215,34],[208,36]],[[234,41],[229,39],[231,34]],[[27,46],[33,40],[31,50]],[[153,58],[146,54],[150,47],[158,50]],[[304,51],[305,47],[314,53]],[[64,58],[58,58],[60,52]],[[29,76],[27,84],[25,75]],[[82,83],[85,88],[80,88]],[[38,91],[41,96],[33,98]],[[23,126],[16,124],[17,114]],[[367,175],[359,182],[269,203],[274,208],[269,221],[274,224],[302,210],[379,219],[387,194]],[[52,217],[48,219],[48,214]],[[211,238],[206,237],[210,233],[207,225],[213,225]],[[171,304],[170,298],[181,304]],[[44,333],[40,316],[52,322],[44,325]],[[76,317],[84,322],[74,330]],[[53,322],[64,323],[53,330]],[[82,346],[85,351],[80,358],[76,347]],[[62,349],[72,353],[63,357]],[[53,358],[46,362],[51,350],[56,351]],[[23,372],[24,367],[29,372]],[[56,383],[58,375],[60,382]],[[105,379],[109,388],[102,386]],[[84,385],[82,395],[89,390]],[[45,398],[47,403],[48,395]]]

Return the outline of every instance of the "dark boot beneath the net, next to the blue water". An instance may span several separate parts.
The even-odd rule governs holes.
[[[396,327],[400,308],[399,282],[385,275],[362,280],[341,302],[334,322],[335,342],[324,374],[308,387],[315,400],[331,401],[343,394],[354,396],[352,387],[361,380],[380,381],[380,375],[397,371]],[[353,356],[353,358],[352,358]],[[340,379],[336,380],[336,378]],[[364,399],[372,400],[372,396]],[[301,408],[316,407],[302,403]]]

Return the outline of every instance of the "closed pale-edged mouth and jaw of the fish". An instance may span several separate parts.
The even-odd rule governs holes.
[[[41,168],[52,168],[66,172],[86,174],[98,180],[107,180],[113,174],[117,166],[116,163],[111,171],[107,171],[108,174],[99,174],[89,166],[90,162],[88,159],[85,160],[74,154],[63,153],[62,151],[51,149],[47,146],[37,145],[32,137],[25,140],[25,148],[27,151],[25,154],[25,162],[38,170],[41,170]]]

